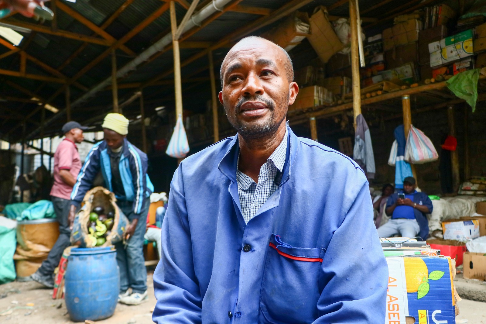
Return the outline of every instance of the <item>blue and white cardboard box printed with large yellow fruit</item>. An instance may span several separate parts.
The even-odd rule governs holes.
[[[385,324],[455,323],[450,257],[387,257]]]

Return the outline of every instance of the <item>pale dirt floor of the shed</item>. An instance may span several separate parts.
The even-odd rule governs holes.
[[[151,324],[155,306],[152,274],[147,277],[149,300],[139,306],[118,304],[115,314],[97,324]],[[34,306],[27,306],[34,303]],[[463,299],[457,324],[486,324],[486,303]],[[27,308],[23,308],[27,307]],[[12,310],[12,312],[10,312]],[[52,299],[52,289],[43,289],[35,282],[12,282],[0,286],[0,323],[71,324],[63,300]]]

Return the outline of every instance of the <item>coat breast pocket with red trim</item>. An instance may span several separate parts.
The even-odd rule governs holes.
[[[324,248],[297,248],[272,234],[263,273],[264,323],[312,323],[317,318],[319,270]]]

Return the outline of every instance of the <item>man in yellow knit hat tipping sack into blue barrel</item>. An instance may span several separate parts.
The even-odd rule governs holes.
[[[103,122],[104,140],[93,146],[78,175],[71,193],[69,224],[72,226],[93,180],[101,171],[104,186],[115,194],[117,205],[130,220],[125,232],[126,246],[120,242],[117,262],[120,267],[119,302],[138,305],[147,300],[147,270],[143,259],[143,242],[150,194],[154,186],[147,176],[147,155],[128,142],[128,119],[109,113]],[[131,288],[131,292],[130,292]]]

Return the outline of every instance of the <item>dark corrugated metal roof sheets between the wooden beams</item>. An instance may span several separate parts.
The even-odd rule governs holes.
[[[290,0],[243,0],[240,2],[242,6],[254,6],[254,7],[263,7],[269,9],[278,9],[283,4],[289,2]],[[306,11],[309,14],[312,14],[313,8],[318,5],[324,5],[329,7],[330,5],[334,4],[337,0],[314,0],[311,3],[305,5],[300,11]],[[382,0],[360,0],[360,9],[364,11],[366,8],[374,6],[375,4],[381,2]],[[76,3],[71,3],[69,1],[63,1],[64,4],[70,6],[75,11],[80,13],[82,16],[89,19],[95,25],[102,25],[107,18],[109,18],[123,3],[125,0],[77,0]],[[189,1],[191,2],[191,1]],[[200,7],[205,5],[205,3],[209,3],[208,1],[201,1]],[[417,3],[417,1],[415,2]],[[47,2],[47,5],[51,5],[50,2]],[[132,4],[127,6],[125,10],[121,13],[121,15],[113,21],[113,23],[105,29],[105,32],[113,36],[115,39],[120,39],[128,32],[130,32],[133,28],[139,25],[144,19],[149,17],[154,11],[156,11],[160,6],[164,5],[163,1],[160,0],[135,0]],[[401,3],[400,3],[401,5]],[[388,4],[385,4],[379,8],[366,13],[365,17],[379,17],[384,15],[385,12],[392,10],[397,6],[396,1],[390,1]],[[184,17],[186,13],[186,9],[184,9],[180,4],[176,4],[176,15],[179,21]],[[333,9],[330,11],[330,15],[334,16],[348,16],[348,5],[344,3],[343,5]],[[253,15],[253,14],[244,14],[244,13],[237,13],[237,12],[226,12],[220,17],[216,18],[212,22],[210,22],[207,26],[205,26],[202,30],[192,35],[187,41],[206,41],[206,42],[216,42],[226,35],[238,30],[239,28],[243,27],[245,24],[254,21],[261,16]],[[15,15],[12,19],[18,21],[25,21],[28,23],[35,23],[34,20],[22,17],[20,15]],[[57,26],[59,30],[67,30],[72,33],[78,33],[82,35],[92,36],[96,34],[87,28],[85,25],[77,21],[76,19],[70,17],[64,11],[57,9]],[[7,19],[8,20],[8,19]],[[264,27],[261,30],[255,31],[254,35],[260,35],[261,32],[272,28],[273,26],[277,25],[279,22],[274,22],[271,25]],[[46,21],[41,24],[47,28],[51,28],[51,22]],[[141,53],[144,49],[148,48],[151,44],[153,44],[159,37],[164,36],[165,33],[170,32],[170,14],[169,11],[163,13],[160,17],[156,18],[151,24],[149,24],[146,28],[144,28],[139,34],[131,38],[128,42],[125,43],[125,46],[134,51],[135,53]],[[96,36],[101,38],[101,36]],[[25,37],[27,39],[28,36]],[[24,44],[27,43],[25,40],[20,44],[20,48],[24,47]],[[74,53],[83,42],[64,38],[61,36],[54,36],[49,34],[43,33],[36,33],[32,41],[30,42],[29,46],[27,47],[27,53],[35,56],[45,64],[51,66],[52,68],[58,68],[72,53]],[[304,41],[305,43],[305,41]],[[301,45],[301,50],[304,51],[306,45]],[[98,57],[100,54],[106,51],[107,47],[102,45],[95,45],[89,44],[86,48],[74,57],[69,64],[61,71],[67,77],[72,77],[81,71],[87,64],[89,64],[92,60]],[[181,62],[184,62],[186,59],[190,58],[192,55],[200,53],[204,49],[187,49],[181,48]],[[299,47],[296,47],[296,50],[299,50]],[[0,54],[5,53],[7,50],[5,48],[0,49]],[[219,65],[221,60],[226,55],[228,49],[227,48],[219,48],[214,50],[213,56],[215,60],[216,70],[219,69]],[[142,64],[139,66],[138,70],[133,71],[122,80],[119,80],[120,83],[127,83],[127,82],[144,82],[148,79],[153,78],[160,73],[168,71],[173,67],[173,56],[172,51],[167,51],[159,55],[155,60],[150,63]],[[291,52],[291,55],[294,55]],[[300,63],[299,60],[305,61],[305,58],[299,58],[299,55],[295,56],[295,63],[298,65]],[[305,55],[304,55],[305,56]],[[121,67],[124,64],[131,61],[133,57],[129,57],[128,54],[122,52],[121,50],[117,51],[117,63],[118,66]],[[202,68],[206,67],[208,64],[208,59],[206,55],[203,57],[191,62],[184,67],[182,67],[182,78],[186,78],[188,76],[192,77],[206,77],[208,76],[208,71],[201,71]],[[3,58],[0,60],[0,69],[6,70],[15,70],[19,68],[19,56],[18,54],[13,54],[9,57]],[[35,65],[33,62],[27,62],[27,71],[36,73],[39,75],[49,75],[52,76],[50,73],[44,71],[42,68]],[[86,86],[87,88],[92,88],[96,86],[100,81],[104,80],[106,77],[109,77],[111,74],[111,60],[110,56],[108,55],[105,57],[99,64],[97,64],[94,68],[87,71],[84,75],[82,75],[77,82]],[[172,76],[167,76],[166,78],[171,78]],[[38,80],[29,80],[24,78],[17,78],[12,76],[5,76],[1,75],[1,79],[8,79],[11,82],[15,82],[21,87],[24,87],[26,90],[35,92],[38,91],[37,94],[44,98],[49,98],[52,96],[54,92],[58,89],[63,87],[61,84],[55,83],[45,83],[43,81]],[[39,88],[43,85],[42,88]],[[183,85],[183,88],[190,87],[190,84]],[[71,86],[71,97],[72,100],[82,96],[85,92],[83,90],[78,89],[76,86]],[[40,89],[40,90],[39,90]],[[205,91],[209,91],[209,82],[202,83],[201,86],[196,88],[197,90],[192,90],[192,93],[198,93],[194,97],[199,98],[199,93],[206,93]],[[2,91],[2,87],[0,87],[0,93]],[[10,90],[9,90],[10,91]],[[15,93],[18,97],[27,98],[27,95],[18,90],[11,90],[12,93]],[[124,100],[125,96],[130,96],[133,93],[133,89],[120,89],[119,94],[121,100]],[[173,96],[173,89],[171,86],[163,86],[163,87],[149,87],[144,90],[146,92],[147,97],[155,98],[156,100],[164,100],[164,96]],[[154,99],[154,100],[155,100]],[[197,101],[197,100],[196,100]],[[186,102],[190,102],[186,100]],[[109,107],[111,104],[111,92],[110,91],[100,91],[97,93],[96,97],[87,102],[85,105],[86,107],[91,107],[94,105],[105,105]],[[32,111],[36,105],[35,104],[25,104],[21,102],[8,102],[8,107],[16,109],[20,113],[27,115],[30,111]],[[65,106],[65,98],[64,94],[59,95],[53,101],[52,105],[60,108],[64,108]],[[135,105],[135,104],[134,104]],[[3,103],[5,106],[5,103]],[[136,106],[136,105],[135,105]],[[134,107],[135,107],[134,106]],[[194,108],[197,105],[188,105],[185,107]],[[127,109],[130,109],[130,106]],[[1,110],[1,109],[0,109]],[[77,111],[82,110],[82,108],[77,108]],[[90,110],[91,111],[91,110]],[[80,117],[83,118],[91,118],[93,112],[90,112],[86,116],[80,114]],[[48,112],[47,116],[51,116],[52,113]],[[37,113],[33,116],[36,120],[39,120],[40,114]],[[82,121],[82,120],[80,120]],[[55,125],[52,127],[58,127],[59,124],[63,122],[63,119],[60,118]],[[1,134],[5,134],[8,132],[9,127],[15,127],[17,123],[8,123],[3,125],[3,129],[0,131]],[[35,124],[29,124],[27,133],[35,129]],[[19,138],[21,128],[17,128],[17,130],[12,134],[14,138]]]

